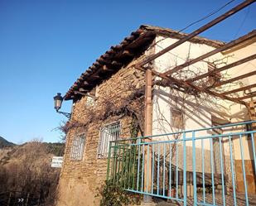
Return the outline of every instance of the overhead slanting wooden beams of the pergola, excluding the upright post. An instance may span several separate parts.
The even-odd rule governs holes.
[[[151,68],[146,67],[145,65],[150,63],[152,60],[157,59],[157,57],[159,57],[161,55],[164,55],[168,51],[176,48],[177,46],[180,46],[184,42],[191,40],[191,38],[197,36],[198,34],[200,34],[203,31],[206,31],[210,27],[215,26],[219,22],[222,22],[226,18],[234,15],[234,13],[239,12],[240,10],[244,9],[244,7],[248,7],[250,4],[252,4],[254,2],[255,2],[255,0],[246,0],[242,3],[240,3],[238,6],[230,9],[228,12],[225,12],[225,14],[223,14],[220,17],[215,18],[213,21],[205,24],[205,26],[201,26],[196,31],[193,31],[193,32],[191,32],[191,34],[181,38],[179,41],[176,41],[171,46],[167,46],[167,48],[159,51],[157,54],[150,55],[145,60],[142,60],[141,62],[138,62],[136,65],[134,65],[134,67],[136,69],[140,69],[140,70],[144,70],[144,71],[146,71],[147,69],[151,69]],[[246,62],[249,62],[250,60],[254,60],[256,58],[256,54],[250,55],[250,56],[248,56],[248,57],[246,57],[242,60],[235,61],[234,63],[231,63],[229,65],[225,65],[225,66],[220,67],[218,69],[214,69],[212,71],[206,72],[205,74],[201,74],[199,76],[196,76],[195,78],[191,78],[191,79],[187,79],[187,80],[176,79],[176,78],[172,77],[171,74],[173,74],[173,73],[175,73],[175,72],[177,72],[177,71],[179,71],[183,68],[186,68],[189,65],[193,65],[196,62],[199,62],[200,60],[205,60],[205,58],[210,57],[212,55],[215,55],[215,54],[217,54],[221,51],[228,50],[228,49],[230,49],[234,46],[237,46],[237,45],[243,43],[244,41],[249,41],[250,39],[253,39],[254,37],[256,37],[256,30],[250,32],[249,34],[247,34],[245,36],[239,37],[238,39],[236,39],[234,41],[230,41],[229,43],[227,43],[223,46],[220,46],[219,48],[217,48],[215,50],[211,50],[210,52],[208,52],[204,55],[200,55],[199,57],[197,57],[195,59],[188,60],[184,64],[177,65],[176,67],[167,70],[167,72],[159,73],[159,72],[155,71],[154,69],[151,69],[152,74],[157,75],[158,77],[160,77],[162,79],[166,79],[168,82],[170,82],[170,84],[176,84],[178,87],[180,87],[182,89],[185,89],[186,91],[191,91],[191,89],[193,89],[193,90],[195,90],[196,93],[208,93],[208,94],[210,94],[212,96],[215,96],[215,97],[218,97],[218,98],[223,98],[225,100],[229,100],[229,101],[232,101],[234,103],[240,103],[240,104],[244,104],[244,105],[248,106],[248,103],[246,103],[242,100],[246,99],[246,98],[256,97],[256,93],[251,93],[249,95],[246,95],[246,96],[240,97],[240,98],[231,98],[227,95],[229,95],[230,93],[237,93],[237,92],[240,92],[240,91],[244,91],[246,89],[256,88],[256,84],[251,84],[251,85],[248,85],[248,86],[244,86],[244,87],[239,88],[239,89],[233,89],[233,90],[227,91],[225,93],[217,93],[217,92],[212,91],[210,89],[214,89],[215,87],[219,87],[219,86],[224,85],[224,84],[232,83],[232,82],[237,81],[239,79],[244,79],[244,78],[253,76],[253,75],[256,74],[256,71],[249,72],[248,74],[243,74],[243,75],[240,75],[238,77],[228,79],[228,80],[225,80],[225,81],[220,81],[220,82],[216,83],[215,85],[212,85],[208,88],[201,88],[199,86],[196,86],[193,83],[197,80],[209,77],[212,74],[215,74],[215,73],[227,70],[227,69],[232,69],[235,66],[242,65]],[[146,79],[146,83],[147,82],[148,82],[148,79]],[[147,87],[147,85],[146,85],[146,87]],[[147,97],[145,99],[147,99]],[[146,105],[147,105],[147,103],[146,103]]]

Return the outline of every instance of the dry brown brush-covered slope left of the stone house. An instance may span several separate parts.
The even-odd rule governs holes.
[[[60,169],[51,167],[51,158],[63,156],[64,147],[41,141],[4,146],[0,150],[0,205],[17,205],[8,204],[11,191],[29,197],[27,205],[53,205]]]

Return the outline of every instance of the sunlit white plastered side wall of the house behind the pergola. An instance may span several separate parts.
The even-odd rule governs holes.
[[[158,51],[170,46],[176,39],[167,38],[163,36],[157,36],[156,42],[157,45],[155,46],[155,53]],[[176,65],[181,65],[182,63],[186,62],[188,59],[194,59],[200,55],[203,55],[210,50],[214,50],[215,47],[207,46],[203,44],[196,44],[186,41],[181,46],[176,47],[175,49],[167,52],[166,54],[158,57],[154,60],[153,68],[156,69],[158,72],[165,72],[168,69],[175,67]],[[244,57],[254,54],[255,44],[246,46],[244,48],[240,48],[239,50],[229,52],[229,54],[222,54],[218,53],[216,55],[210,56],[206,58],[205,61],[213,62],[215,60],[222,61],[222,64],[219,67],[224,66],[225,64],[230,64],[236,60],[241,60]],[[225,58],[227,57],[227,58]],[[200,72],[208,71],[208,65],[205,61],[197,62],[194,65],[189,67],[189,70],[195,71],[198,73],[199,69]],[[245,63],[243,65],[239,65],[234,69],[230,69],[228,74],[225,74],[225,78],[232,78],[236,75],[245,74],[249,71],[255,69],[255,60],[249,63]],[[185,68],[187,69],[187,68]],[[179,77],[180,78],[180,77]],[[182,77],[181,77],[182,78]],[[256,81],[255,78],[247,78],[243,80],[244,85],[254,84]],[[231,84],[228,90],[235,89],[239,85],[238,84]],[[215,102],[214,97],[205,96],[205,99],[210,98],[213,102]],[[212,102],[210,101],[210,102]],[[168,87],[164,88],[161,86],[154,86],[153,91],[153,111],[152,111],[152,118],[153,118],[153,127],[152,127],[152,134],[159,135],[168,132],[178,132],[179,130],[171,127],[171,108],[181,108],[184,111],[184,118],[185,118],[185,127],[184,130],[195,130],[198,128],[204,127],[212,127],[212,117],[219,117],[225,122],[239,122],[248,120],[249,117],[247,115],[247,109],[237,103],[230,103],[229,101],[217,101],[215,103],[207,103],[207,101],[203,100],[202,102],[197,102],[192,95],[186,95],[181,92],[176,92],[174,89],[170,89]],[[236,128],[233,128],[234,132]],[[244,130],[244,127],[238,127],[236,131]],[[181,130],[180,130],[181,131]],[[230,131],[226,131],[230,132]],[[225,131],[223,131],[225,133]],[[210,133],[207,131],[196,132],[196,137],[205,137],[209,136]],[[187,137],[191,137],[191,134],[188,134]],[[159,137],[158,139],[171,139],[172,136],[163,136]],[[155,137],[157,139],[157,137]],[[243,139],[244,145],[244,160],[251,159],[252,156],[249,154],[248,142],[244,138]],[[192,146],[191,141],[186,143],[186,146]],[[201,148],[201,142],[196,141],[196,148]],[[207,153],[210,152],[210,141],[204,141],[204,148]],[[223,153],[224,156],[229,156],[229,142],[223,142]],[[234,159],[240,159],[240,149],[239,149],[239,140],[234,140]],[[207,155],[206,155],[207,156]],[[208,157],[210,155],[208,154]]]

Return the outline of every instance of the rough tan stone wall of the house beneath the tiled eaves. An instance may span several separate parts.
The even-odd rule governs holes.
[[[97,188],[106,180],[107,170],[107,158],[98,158],[97,156],[100,128],[120,121],[121,138],[126,138],[131,136],[132,121],[132,117],[123,113],[109,117],[100,116],[101,113],[108,112],[106,111],[108,107],[104,105],[105,100],[108,99],[111,104],[118,106],[132,93],[128,87],[139,89],[145,84],[144,73],[137,69],[128,69],[128,67],[129,65],[119,69],[116,74],[96,87],[97,99],[94,103],[88,104],[87,97],[81,98],[75,103],[70,120],[70,124],[73,123],[73,125],[67,134],[64,165],[60,175],[58,206],[99,205],[100,198],[95,195]],[[143,98],[140,98],[139,101],[143,103]],[[97,114],[96,120],[94,114]],[[86,137],[83,159],[70,160],[74,138],[80,133],[85,133]]]

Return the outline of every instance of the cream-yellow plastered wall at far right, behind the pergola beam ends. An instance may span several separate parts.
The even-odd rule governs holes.
[[[224,55],[229,56],[228,63],[233,63],[234,61],[244,59],[249,55],[254,55],[256,50],[256,38],[251,41],[245,42],[244,45],[238,46],[233,50],[228,50],[224,53]],[[256,69],[256,60],[250,60],[247,63],[242,65],[238,65],[232,69],[228,70],[228,74],[231,78],[240,76],[242,74],[248,74],[249,72],[255,71]],[[256,83],[256,75],[250,76],[245,79],[240,79],[239,84],[227,84],[229,85],[229,90],[237,89],[239,87],[247,86],[250,84]],[[246,90],[246,93],[254,92],[255,89]],[[239,92],[240,96],[247,95],[244,92]],[[244,101],[248,102],[251,101],[251,98],[244,99]],[[238,104],[238,103],[227,103],[227,108],[231,113],[230,122],[239,122],[249,120],[249,114],[247,108]],[[239,129],[239,128],[238,128]],[[244,129],[244,128],[240,128]],[[234,153],[235,160],[241,160],[241,152],[240,152],[240,145],[239,145],[239,137],[235,138],[234,141]],[[242,138],[242,144],[244,147],[244,160],[253,160],[252,154],[252,145],[251,145],[251,138]]]

